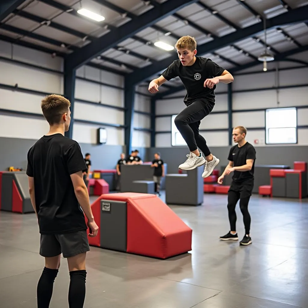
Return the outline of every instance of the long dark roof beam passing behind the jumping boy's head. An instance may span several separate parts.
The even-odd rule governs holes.
[[[268,19],[266,21],[266,28],[271,29],[277,26],[306,21],[308,21],[308,6],[303,6],[298,9],[290,10],[286,13]],[[243,39],[253,37],[254,35],[262,32],[263,30],[263,23],[261,22],[243,29],[239,29],[236,32],[222,36],[219,39],[214,39],[211,42],[199,45],[197,47],[198,54],[204,55],[206,53],[216,51],[217,49],[229,46],[230,44],[239,42]],[[131,86],[136,85],[137,83],[147,79],[149,76],[155,75],[158,72],[163,71],[174,60],[177,59],[178,57],[176,53],[174,53],[171,57],[161,60],[159,65],[149,65],[146,70],[136,70],[134,73],[128,75],[129,84]]]

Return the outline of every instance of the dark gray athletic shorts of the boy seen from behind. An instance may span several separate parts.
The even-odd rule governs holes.
[[[89,250],[87,230],[65,234],[41,234],[39,254],[42,257],[55,257],[63,253],[63,257],[68,258]]]

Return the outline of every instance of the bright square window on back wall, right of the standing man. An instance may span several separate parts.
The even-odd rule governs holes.
[[[266,144],[297,143],[296,108],[274,108],[265,110]]]

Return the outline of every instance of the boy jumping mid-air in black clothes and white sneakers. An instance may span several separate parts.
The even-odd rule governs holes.
[[[205,164],[202,177],[207,177],[213,172],[219,159],[211,154],[205,139],[199,134],[199,126],[201,120],[213,110],[217,83],[230,83],[234,79],[212,60],[196,56],[197,42],[193,37],[181,37],[175,47],[179,60],[169,65],[159,78],[152,80],[148,90],[151,93],[158,92],[158,87],[163,83],[180,77],[187,91],[184,98],[187,107],[176,116],[174,123],[188,145],[190,154],[179,168],[191,170]]]

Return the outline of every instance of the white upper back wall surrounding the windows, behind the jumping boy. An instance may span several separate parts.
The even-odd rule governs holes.
[[[308,60],[308,53],[306,54]],[[273,64],[273,63],[271,63]],[[286,67],[286,62],[278,63],[279,67]],[[277,64],[275,64],[277,65]],[[294,66],[294,63],[292,64]],[[272,68],[272,67],[271,67]],[[250,69],[256,71],[256,68]],[[265,111],[249,111],[249,109],[308,106],[308,87],[291,87],[285,89],[259,90],[260,88],[284,87],[304,85],[308,83],[308,68],[288,69],[258,74],[234,75],[233,82],[233,110],[248,110],[233,112],[233,127],[243,125],[248,128],[247,140],[256,146],[265,144]],[[220,86],[220,83],[218,84]],[[256,89],[256,91],[245,91]],[[213,113],[201,121],[200,129],[228,128],[228,115],[215,114],[217,111],[228,110],[227,85],[221,84],[216,89],[216,103]],[[169,95],[165,99],[156,101],[156,115],[178,114],[185,108],[183,98],[185,91]],[[173,98],[172,98],[173,97]],[[298,125],[308,125],[308,107],[298,109]],[[249,128],[254,130],[249,131]],[[260,128],[260,130],[257,130]],[[156,118],[156,132],[171,131],[171,116]],[[228,146],[228,132],[201,132],[211,146]],[[308,145],[308,129],[298,128],[298,145]],[[267,145],[270,146],[270,145]],[[276,145],[277,146],[277,145]],[[284,146],[284,145],[283,145]],[[171,147],[171,134],[156,134],[156,147]]]

